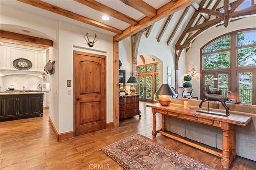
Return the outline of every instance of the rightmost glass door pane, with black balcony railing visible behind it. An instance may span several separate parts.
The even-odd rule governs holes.
[[[239,70],[237,71],[238,81],[236,87],[236,101],[242,104],[255,105],[256,94],[255,94],[255,70]]]

